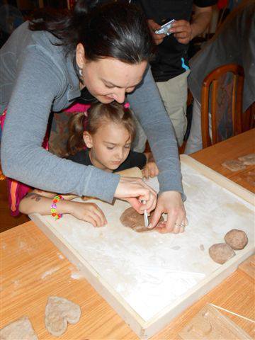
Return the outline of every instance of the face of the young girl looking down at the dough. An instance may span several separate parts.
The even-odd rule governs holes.
[[[130,133],[123,125],[103,124],[94,135],[84,132],[84,142],[90,148],[89,156],[94,166],[106,171],[118,169],[130,152]]]

